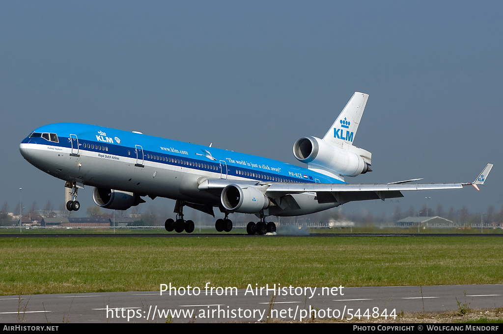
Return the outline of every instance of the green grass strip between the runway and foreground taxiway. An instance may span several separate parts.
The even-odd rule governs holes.
[[[2,238],[0,294],[503,283],[498,237]]]

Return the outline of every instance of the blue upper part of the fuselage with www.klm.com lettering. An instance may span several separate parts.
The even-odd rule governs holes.
[[[109,156],[107,158],[112,159],[114,156],[137,159],[139,164],[151,161],[194,170],[222,173],[250,180],[343,183],[338,179],[328,177],[324,174],[276,160],[97,126],[53,124],[41,127],[35,130],[35,132],[56,133],[59,142],[51,142],[37,137],[26,138],[23,140],[23,143],[30,142],[72,149],[71,137],[76,137],[79,154],[82,154],[82,151],[97,152],[107,155]],[[99,135],[99,133],[109,133],[112,135],[103,136]],[[115,138],[112,136],[115,136]],[[114,140],[118,143],[115,143]],[[138,150],[138,157],[136,147],[141,147],[142,150]],[[74,147],[73,150],[75,150]],[[143,153],[143,156],[141,156],[141,153]],[[194,158],[190,158],[189,155],[193,155]],[[205,165],[206,168],[204,167]],[[225,173],[225,169],[227,169],[227,173]]]

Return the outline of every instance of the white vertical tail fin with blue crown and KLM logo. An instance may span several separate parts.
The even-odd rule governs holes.
[[[333,146],[341,148],[343,145],[346,147],[348,145],[353,145],[368,97],[368,94],[355,92],[336,122],[328,129],[323,140]]]

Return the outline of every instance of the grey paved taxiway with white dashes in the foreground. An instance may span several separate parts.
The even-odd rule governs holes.
[[[258,322],[269,317],[308,320],[392,319],[404,312],[503,306],[503,284],[395,287],[256,286],[247,289],[162,286],[165,291],[72,293],[0,297],[4,323]],[[459,302],[459,303],[458,303]]]

